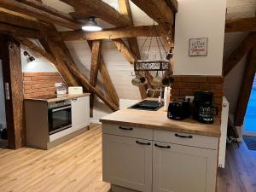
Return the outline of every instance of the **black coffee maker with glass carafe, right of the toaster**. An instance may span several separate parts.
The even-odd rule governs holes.
[[[194,97],[195,110],[193,117],[195,120],[212,124],[214,122],[213,115],[218,114],[218,108],[212,106],[213,94],[210,91],[196,91]]]

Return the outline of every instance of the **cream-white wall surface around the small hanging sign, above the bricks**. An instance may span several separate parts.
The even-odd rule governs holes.
[[[221,75],[226,1],[177,2],[174,74]],[[189,57],[189,38],[208,38],[208,55]]]

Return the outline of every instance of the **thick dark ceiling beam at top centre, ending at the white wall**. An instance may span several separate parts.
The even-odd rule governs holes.
[[[149,17],[158,23],[168,23],[173,26],[174,14],[166,0],[131,0],[142,9]]]

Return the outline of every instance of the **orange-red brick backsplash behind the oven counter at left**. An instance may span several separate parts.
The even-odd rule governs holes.
[[[64,83],[59,73],[23,73],[24,96],[54,95],[55,83]]]

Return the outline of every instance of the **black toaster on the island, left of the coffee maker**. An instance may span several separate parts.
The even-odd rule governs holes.
[[[169,119],[182,120],[190,116],[190,99],[174,100],[169,104],[167,117]]]

